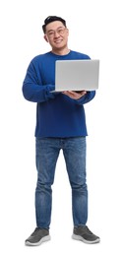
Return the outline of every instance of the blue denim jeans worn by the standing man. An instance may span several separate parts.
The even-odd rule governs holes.
[[[35,215],[38,227],[49,228],[51,222],[52,189],[55,166],[63,150],[72,188],[74,226],[84,225],[88,219],[88,189],[86,184],[86,137],[36,138],[37,184]]]

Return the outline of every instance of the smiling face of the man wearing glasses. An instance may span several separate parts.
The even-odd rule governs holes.
[[[52,48],[61,49],[67,46],[68,34],[68,29],[61,22],[55,21],[46,26],[44,38]]]

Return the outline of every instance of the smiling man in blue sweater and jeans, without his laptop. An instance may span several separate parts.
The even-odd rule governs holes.
[[[23,84],[26,99],[36,102],[35,151],[37,184],[35,189],[36,228],[26,245],[49,240],[52,189],[55,166],[60,150],[66,161],[72,188],[73,238],[86,243],[99,242],[88,228],[88,189],[86,183],[87,125],[84,104],[95,92],[63,92],[55,89],[55,61],[90,59],[86,54],[68,48],[69,31],[60,17],[49,16],[42,26],[44,39],[51,51],[31,60]]]

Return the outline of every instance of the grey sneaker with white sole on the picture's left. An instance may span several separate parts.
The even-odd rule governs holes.
[[[25,244],[36,246],[48,240],[50,240],[49,230],[46,228],[36,227],[31,233],[31,236],[25,241]]]

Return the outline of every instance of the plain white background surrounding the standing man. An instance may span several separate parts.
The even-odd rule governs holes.
[[[121,0],[3,0],[0,2],[0,250],[2,255],[123,255],[124,37]],[[51,241],[26,247],[35,227],[35,103],[22,95],[28,65],[50,50],[41,26],[63,17],[69,48],[100,60],[99,90],[86,105],[88,225],[101,242],[71,239],[71,189],[60,154],[53,185]]]

